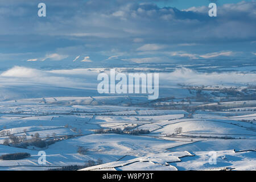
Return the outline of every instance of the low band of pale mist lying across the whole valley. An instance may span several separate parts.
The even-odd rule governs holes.
[[[0,74],[0,99],[77,96],[78,94],[79,96],[97,96],[97,76],[100,72],[108,73],[109,69],[88,68],[42,71],[26,67],[14,67]],[[234,84],[255,84],[255,82],[256,73],[199,73],[188,68],[176,68],[173,72],[159,73],[160,90],[172,88],[177,84],[224,84],[224,86],[230,86]]]

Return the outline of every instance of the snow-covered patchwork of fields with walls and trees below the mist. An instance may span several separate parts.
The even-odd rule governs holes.
[[[46,170],[99,159],[104,164],[83,170],[256,169],[255,111],[244,113],[243,107],[193,111],[156,106],[160,102],[147,104],[143,96],[3,100],[0,155],[28,152],[31,156],[0,160],[0,169]],[[236,102],[234,107],[240,103],[245,102]],[[199,107],[202,102],[190,105]],[[232,103],[217,104],[222,105]],[[249,111],[254,108],[246,106]],[[41,148],[22,146],[36,134],[51,142]],[[20,138],[18,144],[11,140],[13,135]],[[86,152],[79,152],[79,147]],[[39,151],[46,152],[46,164],[38,163]],[[210,164],[212,152],[215,164]]]

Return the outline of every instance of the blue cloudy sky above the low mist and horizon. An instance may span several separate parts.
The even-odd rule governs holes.
[[[0,71],[255,61],[255,20],[255,1],[1,0]]]

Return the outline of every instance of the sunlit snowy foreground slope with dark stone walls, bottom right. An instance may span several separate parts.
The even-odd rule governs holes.
[[[122,162],[112,162],[98,166],[81,169],[81,171],[90,170],[109,170],[118,171],[177,171],[177,170],[255,170],[256,169],[256,151],[234,152],[233,150],[224,150],[216,152],[216,163],[210,163],[212,153],[209,152],[168,152],[145,156],[144,158],[135,158]]]

